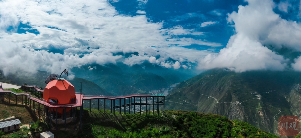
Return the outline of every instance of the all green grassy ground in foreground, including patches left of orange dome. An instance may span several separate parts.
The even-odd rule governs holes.
[[[1,96],[1,98],[3,95]],[[5,99],[0,100],[0,116],[2,118],[10,115],[16,116],[21,122],[37,121],[34,112],[25,105],[21,105],[21,96],[17,97],[18,104],[15,104],[15,96],[11,95],[11,103],[9,103],[9,95],[4,95]],[[25,101],[25,100],[23,100]],[[2,109],[3,108],[3,109]],[[65,125],[58,125],[58,130],[45,123],[36,123],[36,128],[32,130],[44,132],[50,129],[57,138],[102,138],[102,137],[272,137],[277,136],[262,131],[246,122],[231,121],[228,118],[215,115],[204,114],[198,112],[185,111],[166,111],[157,115],[145,114],[145,112],[134,114],[110,114],[109,110],[100,112],[97,109],[84,109],[82,118],[82,128],[78,129],[79,125],[79,110],[77,110],[76,125],[74,122]],[[6,115],[6,116],[5,116]],[[27,120],[26,120],[27,119]],[[32,126],[33,127],[33,126]],[[34,133],[36,136],[39,133]],[[22,136],[22,132],[5,134],[4,137]],[[23,135],[24,136],[24,135]]]

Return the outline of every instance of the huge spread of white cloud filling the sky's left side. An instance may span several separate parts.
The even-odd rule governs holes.
[[[146,0],[138,1],[147,3]],[[169,67],[170,63],[165,63],[169,57],[196,62],[200,55],[212,53],[179,46],[221,46],[220,43],[177,36],[202,35],[202,32],[193,29],[182,26],[162,29],[163,22],[153,23],[145,15],[119,15],[107,0],[14,0],[0,1],[0,7],[0,69],[5,73],[20,69],[57,73],[65,68],[90,63],[104,65],[116,63],[116,60],[127,65],[147,60]],[[40,34],[15,33],[20,23],[31,26]],[[9,26],[14,28],[11,32],[6,30]],[[64,54],[48,52],[55,49]],[[118,52],[138,52],[139,56],[126,59],[113,56],[112,53]],[[143,52],[145,54],[140,54]],[[151,57],[157,55],[160,58],[153,61]]]

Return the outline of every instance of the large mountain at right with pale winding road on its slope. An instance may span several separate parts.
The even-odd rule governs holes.
[[[175,87],[166,97],[166,109],[224,115],[277,134],[279,116],[301,115],[300,90],[295,88],[300,76],[289,71],[213,69]]]

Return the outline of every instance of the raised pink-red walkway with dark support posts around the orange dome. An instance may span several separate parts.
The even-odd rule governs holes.
[[[20,85],[18,85],[20,86]],[[20,89],[22,90],[30,90],[39,96],[43,95],[44,89],[41,89],[35,85],[21,85]],[[98,100],[98,111],[100,112],[100,104],[103,106],[103,111],[106,112],[106,107],[109,107],[111,114],[119,114],[129,113],[135,114],[139,113],[141,115],[142,111],[145,114],[152,114],[152,115],[160,115],[160,110],[164,115],[165,110],[165,94],[164,93],[156,93],[156,94],[127,94],[121,96],[104,96],[104,95],[84,95],[83,93],[75,93],[76,101],[72,102],[72,104],[52,104],[47,102],[47,100],[39,97],[35,97],[29,92],[15,92],[13,90],[4,90],[2,84],[0,84],[0,94],[9,94],[9,103],[11,103],[11,94],[16,96],[16,104],[17,104],[17,97],[21,96],[22,101],[21,104],[23,105],[23,96],[25,97],[25,105],[28,106],[30,109],[37,110],[39,118],[42,115],[42,118],[45,120],[48,118],[51,122],[56,122],[56,129],[57,129],[57,119],[58,119],[58,112],[61,110],[63,114],[63,119],[65,121],[65,126],[67,125],[67,112],[68,115],[71,115],[71,120],[74,121],[76,116],[74,115],[77,108],[80,108],[80,128],[81,128],[81,120],[83,114],[83,104],[85,100],[89,100],[89,109],[91,112],[91,100]],[[4,96],[4,95],[3,95]],[[28,102],[27,102],[28,101]],[[100,103],[103,101],[103,103]],[[42,106],[42,108],[41,108]],[[41,111],[42,109],[42,111]],[[69,110],[71,109],[71,111]],[[122,111],[123,110],[123,111]],[[67,119],[64,119],[67,118]],[[55,120],[55,121],[54,121]],[[69,120],[70,122],[70,120]]]

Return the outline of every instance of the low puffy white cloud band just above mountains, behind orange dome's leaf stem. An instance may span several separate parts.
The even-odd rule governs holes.
[[[64,69],[80,67],[87,63],[97,63],[100,65],[116,63],[116,60],[121,58],[121,56],[104,54],[105,51],[93,51],[80,58],[78,54],[62,55],[49,53],[45,50],[29,50],[11,41],[0,40],[0,43],[2,44],[0,69],[3,70],[5,75],[19,70],[34,73],[37,69],[59,73]]]

